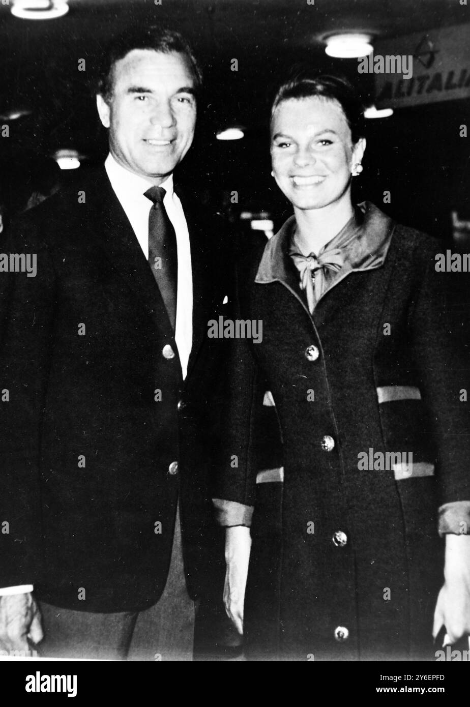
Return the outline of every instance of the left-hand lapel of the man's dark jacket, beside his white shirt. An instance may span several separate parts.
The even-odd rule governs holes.
[[[99,233],[98,245],[122,283],[139,298],[155,327],[163,330],[165,338],[174,345],[172,327],[160,290],[105,169],[98,170],[94,179],[91,196],[95,199],[95,221],[91,222],[93,230]],[[173,348],[176,350],[175,346]]]

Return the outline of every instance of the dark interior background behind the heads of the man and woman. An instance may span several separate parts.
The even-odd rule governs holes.
[[[468,23],[470,6],[459,0],[70,0],[64,18],[25,21],[0,5],[0,201],[11,212],[24,208],[37,180],[47,180],[43,158],[57,148],[76,148],[78,170],[60,173],[62,183],[79,180],[87,165],[107,153],[106,133],[95,111],[93,81],[100,47],[131,23],[170,24],[194,45],[204,66],[208,98],[199,105],[198,135],[184,160],[184,175],[220,209],[238,192],[237,210],[268,211],[276,226],[288,205],[270,176],[266,128],[269,97],[279,78],[302,59],[350,76],[366,103],[373,83],[358,74],[357,59],[330,59],[322,37],[343,30],[396,37],[445,25]],[[470,34],[470,33],[469,33]],[[470,37],[469,37],[470,40]],[[396,53],[401,54],[399,42]],[[238,71],[230,70],[231,59]],[[86,71],[78,71],[78,60]],[[368,120],[363,175],[356,199],[375,201],[399,221],[450,243],[450,212],[470,217],[469,100],[395,110]],[[12,110],[29,110],[9,120]],[[239,141],[218,141],[216,130],[246,128]],[[40,158],[40,159],[38,159]],[[54,165],[52,165],[54,167]],[[392,194],[383,204],[383,192]],[[2,196],[3,195],[3,196]]]

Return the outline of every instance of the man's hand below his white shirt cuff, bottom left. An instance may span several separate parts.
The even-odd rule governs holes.
[[[29,592],[0,597],[0,650],[28,650],[43,633],[41,615]]]

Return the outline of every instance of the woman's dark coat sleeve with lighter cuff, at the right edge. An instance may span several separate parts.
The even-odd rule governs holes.
[[[470,532],[470,415],[468,312],[459,301],[454,273],[435,269],[428,247],[421,288],[411,310],[413,358],[430,411],[440,487],[439,532]],[[464,523],[464,525],[462,525]]]

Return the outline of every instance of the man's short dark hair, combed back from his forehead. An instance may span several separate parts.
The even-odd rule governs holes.
[[[103,52],[100,77],[98,79],[98,93],[107,102],[112,98],[116,62],[124,59],[134,49],[150,49],[153,52],[162,52],[163,54],[170,54],[170,52],[183,54],[192,69],[194,88],[198,90],[201,87],[201,68],[189,42],[179,32],[157,26],[134,27],[115,37],[106,47],[105,52]]]

